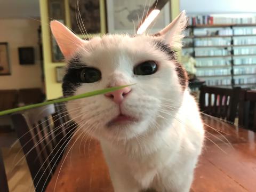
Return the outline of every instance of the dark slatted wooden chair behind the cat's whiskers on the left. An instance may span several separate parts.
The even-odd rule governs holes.
[[[49,105],[11,115],[36,191],[47,187],[74,132],[63,110]]]

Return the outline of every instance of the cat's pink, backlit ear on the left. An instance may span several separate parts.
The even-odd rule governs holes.
[[[72,31],[64,26],[59,21],[51,21],[52,34],[55,37],[60,50],[66,59],[69,59],[77,51],[79,47],[82,47],[85,43],[84,40],[77,37]]]

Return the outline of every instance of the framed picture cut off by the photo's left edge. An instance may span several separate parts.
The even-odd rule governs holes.
[[[0,43],[0,75],[11,75],[8,43]]]

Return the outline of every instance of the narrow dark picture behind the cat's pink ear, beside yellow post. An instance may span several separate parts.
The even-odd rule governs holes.
[[[49,20],[58,20],[64,25],[65,23],[65,2],[63,0],[48,0],[49,9]],[[64,61],[64,56],[60,51],[55,38],[51,34],[51,52],[52,52],[52,62],[62,62]]]

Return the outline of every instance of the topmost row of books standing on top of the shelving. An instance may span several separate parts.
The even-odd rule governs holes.
[[[252,24],[256,23],[254,17],[220,17],[217,15],[191,15],[188,17],[189,25],[216,25],[216,24]]]

